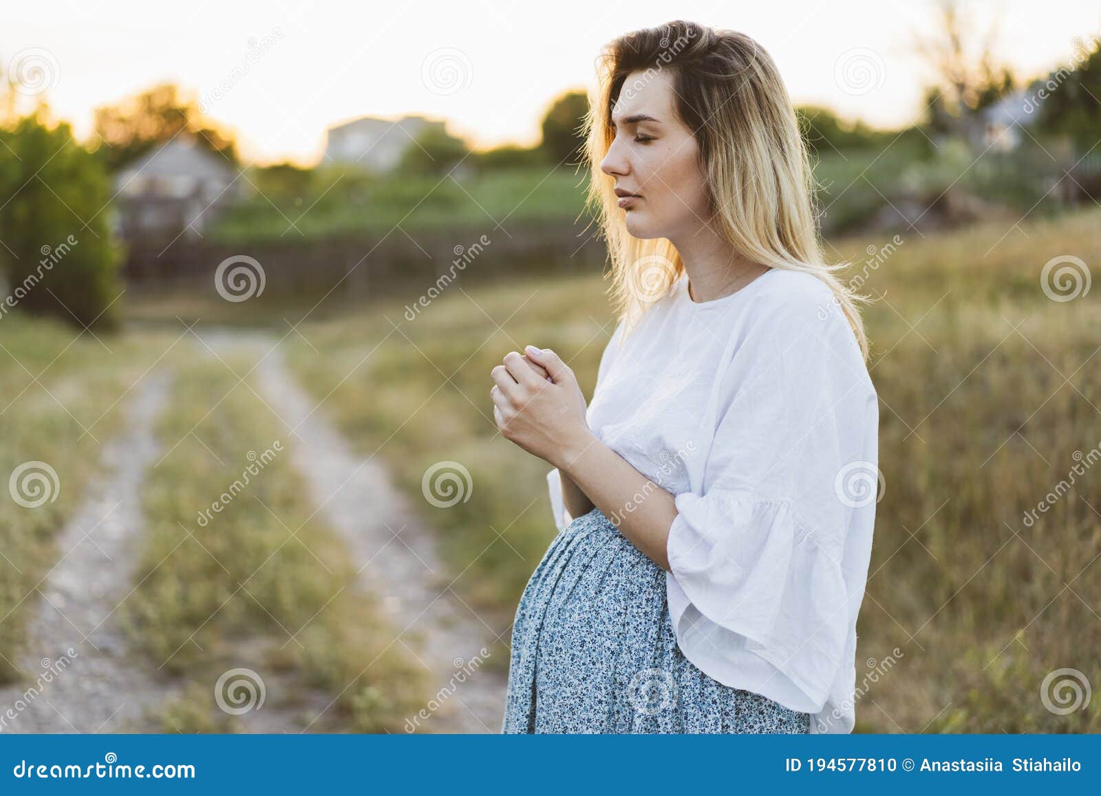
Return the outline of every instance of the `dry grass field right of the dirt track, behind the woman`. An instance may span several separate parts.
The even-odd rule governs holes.
[[[866,310],[881,397],[886,490],[861,613],[859,731],[1097,731],[1098,715],[1040,702],[1060,667],[1101,681],[1101,490],[1095,476],[1026,526],[1076,451],[1101,443],[1095,293],[1056,302],[1040,272],[1059,254],[1101,262],[1097,209],[1058,221],[903,236],[886,255],[833,243]],[[882,248],[880,251],[885,251]],[[414,320],[397,304],[306,324],[292,364],[366,454],[421,500],[464,590],[508,621],[555,533],[548,466],[497,434],[490,369],[532,342],[592,389],[614,325],[599,276],[451,287]],[[434,462],[471,473],[466,502],[421,498]],[[900,653],[893,653],[898,647]],[[897,658],[877,684],[877,662]],[[864,688],[861,688],[863,683]]]

